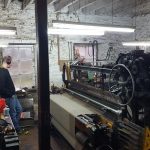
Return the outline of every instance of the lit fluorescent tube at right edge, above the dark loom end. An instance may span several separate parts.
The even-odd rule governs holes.
[[[123,42],[124,46],[150,46],[150,41]]]

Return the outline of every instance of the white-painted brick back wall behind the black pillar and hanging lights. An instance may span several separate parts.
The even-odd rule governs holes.
[[[14,1],[9,9],[4,10],[0,7],[0,26],[16,26],[17,27],[17,38],[18,41],[20,40],[35,40],[35,10],[34,4],[30,5],[27,9],[22,11],[21,3],[18,5],[17,1]],[[48,7],[48,26],[52,25],[52,20],[56,20],[56,14],[53,12],[54,8],[52,6]],[[146,9],[148,6],[146,6]],[[140,11],[144,9],[143,6],[138,8]],[[60,20],[66,21],[78,21],[81,22],[91,22],[91,23],[100,23],[100,24],[112,24],[112,17],[111,16],[95,16],[92,15],[83,15],[78,13],[78,17],[75,14],[60,14],[58,16]],[[129,17],[114,17],[113,24],[114,25],[129,25],[132,26],[135,23],[135,18]],[[150,15],[146,16],[139,16],[136,18],[136,25],[137,25],[137,32],[136,38],[139,40],[150,40]],[[4,40],[4,42],[11,39],[11,37],[0,37],[0,40]],[[133,47],[123,47],[121,45],[122,41],[131,41],[135,39],[135,34],[115,34],[115,33],[106,33],[102,37],[61,37],[60,38],[60,59],[68,59],[69,57],[69,49],[68,49],[68,42],[86,42],[97,40],[99,43],[103,43],[106,45],[103,50],[103,56],[106,54],[107,47],[109,43],[114,43],[114,53],[112,59],[116,59],[120,52],[128,52]],[[16,41],[17,41],[16,40]],[[55,83],[56,85],[62,85],[61,81],[61,72],[59,71],[58,66],[58,45],[56,36],[49,37],[50,40],[54,41],[53,46],[51,47],[51,51],[49,52],[49,66],[50,66],[50,79],[51,83]],[[150,51],[149,48],[146,49]]]

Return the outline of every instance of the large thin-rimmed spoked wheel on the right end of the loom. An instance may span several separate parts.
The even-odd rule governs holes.
[[[135,83],[130,70],[123,64],[117,64],[109,75],[109,91],[117,96],[121,106],[128,105],[134,97]]]

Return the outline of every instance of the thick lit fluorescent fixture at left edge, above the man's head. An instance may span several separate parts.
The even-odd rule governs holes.
[[[0,27],[0,35],[16,35],[16,27]]]

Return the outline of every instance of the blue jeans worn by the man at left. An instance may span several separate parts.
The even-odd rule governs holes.
[[[17,132],[20,131],[19,120],[22,112],[21,104],[16,95],[6,98],[6,104],[10,108],[10,116]]]

